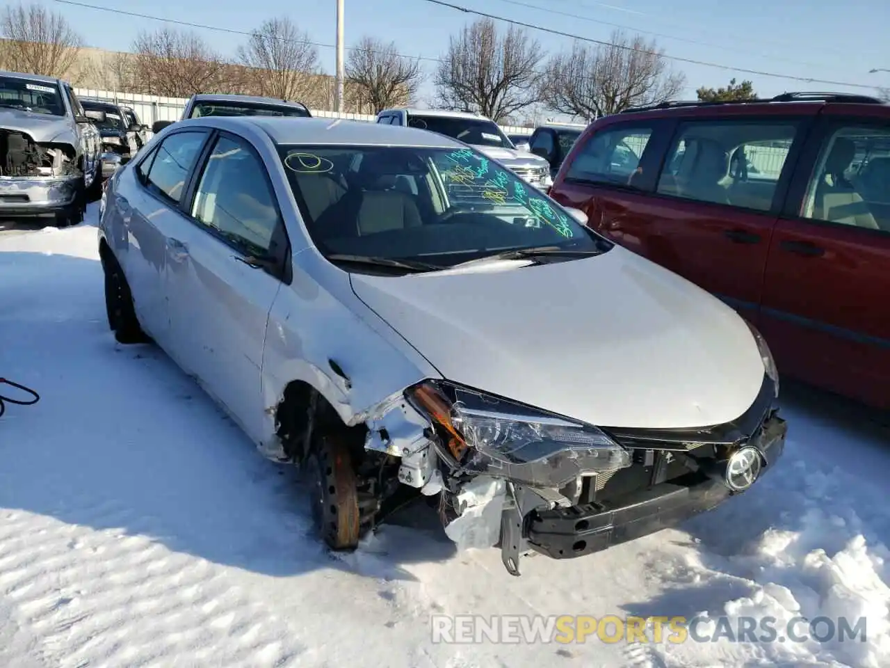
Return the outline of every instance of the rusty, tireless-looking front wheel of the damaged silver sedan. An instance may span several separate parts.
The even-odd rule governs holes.
[[[332,550],[359,545],[358,481],[344,436],[321,436],[307,460],[311,475],[312,519]]]

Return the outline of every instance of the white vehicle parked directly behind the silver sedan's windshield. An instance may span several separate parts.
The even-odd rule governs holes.
[[[434,109],[388,109],[377,114],[377,123],[417,127],[444,134],[473,146],[490,159],[498,160],[539,190],[545,190],[553,183],[546,160],[526,151],[518,151],[497,123],[479,114]]]

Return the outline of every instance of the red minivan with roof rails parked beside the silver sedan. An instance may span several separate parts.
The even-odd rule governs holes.
[[[890,105],[627,110],[587,127],[550,195],[732,305],[782,375],[890,408]]]

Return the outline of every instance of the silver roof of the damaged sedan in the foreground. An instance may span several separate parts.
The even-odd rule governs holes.
[[[278,144],[417,146],[463,149],[464,143],[416,127],[389,126],[342,118],[287,118],[268,116],[207,116],[179,121],[175,126],[204,125],[238,133],[255,127]]]

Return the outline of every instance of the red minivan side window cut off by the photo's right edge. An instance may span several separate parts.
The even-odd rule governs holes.
[[[803,216],[890,232],[890,128],[847,126],[829,136]]]

